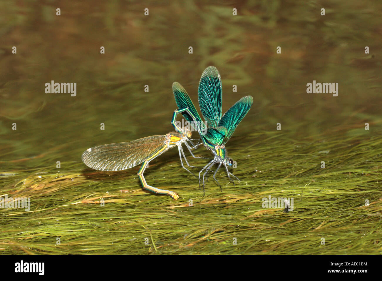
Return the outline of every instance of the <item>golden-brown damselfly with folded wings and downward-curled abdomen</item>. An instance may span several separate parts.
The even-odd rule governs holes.
[[[194,167],[188,164],[182,148],[182,144],[185,144],[191,155],[195,157],[191,152],[191,146],[196,148],[190,140],[191,131],[188,128],[180,128],[175,124],[173,125],[178,132],[168,133],[166,135],[147,136],[139,140],[111,143],[89,148],[82,154],[82,161],[86,166],[99,171],[122,171],[143,163],[138,172],[138,177],[141,180],[143,188],[157,194],[169,195],[174,200],[177,200],[179,195],[176,192],[148,185],[143,175],[147,165],[152,159],[157,158],[160,154],[175,146],[178,146],[182,167],[190,172],[183,166],[182,158],[189,167]],[[190,173],[193,174],[192,172]],[[194,176],[196,177],[196,175]]]

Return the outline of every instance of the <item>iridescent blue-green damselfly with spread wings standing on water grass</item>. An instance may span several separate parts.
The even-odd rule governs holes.
[[[233,160],[228,157],[225,143],[230,139],[237,125],[247,114],[248,110],[253,104],[253,97],[242,97],[222,116],[222,80],[220,73],[216,67],[207,67],[200,78],[198,88],[199,107],[204,119],[207,122],[207,127],[202,122],[202,119],[196,108],[191,101],[186,90],[178,82],[172,84],[175,102],[178,110],[174,111],[172,124],[175,126],[174,121],[176,116],[181,113],[188,122],[196,124],[197,131],[201,136],[204,146],[212,151],[214,159],[212,159],[203,169],[199,172],[199,188],[200,176],[203,170],[203,192],[204,192],[204,176],[210,171],[210,168],[215,164],[218,165],[214,172],[214,180],[222,188],[216,180],[215,175],[220,167],[223,165],[227,171],[228,178],[235,186],[235,182],[231,179],[230,175],[235,177],[228,171],[228,167],[233,165]],[[204,132],[204,133],[202,133]],[[237,177],[235,177],[238,179]]]

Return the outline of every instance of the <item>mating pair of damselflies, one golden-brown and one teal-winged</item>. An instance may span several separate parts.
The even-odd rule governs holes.
[[[251,108],[253,97],[242,97],[222,115],[222,80],[219,71],[215,67],[207,67],[203,71],[198,88],[199,107],[205,119],[205,122],[202,122],[193,102],[181,84],[174,82],[172,89],[176,105],[178,106],[178,109],[173,113],[171,121],[176,132],[89,148],[82,154],[84,164],[100,171],[121,171],[142,163],[138,177],[141,180],[143,188],[153,193],[169,195],[174,200],[177,200],[179,196],[176,192],[162,190],[148,185],[143,173],[152,159],[158,157],[168,149],[177,146],[181,166],[193,174],[184,166],[183,160],[187,166],[197,167],[189,164],[182,145],[184,144],[186,146],[191,156],[201,158],[194,156],[192,152],[192,149],[197,149],[201,141],[204,147],[212,152],[213,159],[210,159],[208,164],[203,168],[199,168],[199,176],[197,177],[199,179],[199,189],[202,183],[204,193],[204,178],[209,171],[213,172],[214,180],[220,188],[222,188],[215,178],[217,171],[222,166],[225,168],[230,181],[235,185],[235,182],[231,178],[231,176],[235,176],[228,170],[228,167],[232,166],[233,160],[228,157],[225,144]],[[186,127],[180,127],[177,124],[176,117],[179,113],[183,115],[184,119],[196,126],[197,132],[200,135],[200,140],[197,145],[194,145],[191,141],[191,130]],[[213,171],[211,169],[214,165],[218,167]],[[237,179],[237,177],[235,178]]]

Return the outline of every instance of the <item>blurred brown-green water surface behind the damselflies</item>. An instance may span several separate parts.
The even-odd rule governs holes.
[[[3,170],[39,167],[41,154],[52,165],[81,161],[88,147],[171,131],[173,81],[197,104],[209,65],[222,76],[223,112],[254,97],[231,146],[278,122],[296,140],[349,127],[364,134],[365,122],[380,132],[379,1],[2,1],[0,10]],[[77,95],[46,94],[51,80],[77,83]],[[313,80],[338,83],[338,96],[306,93]]]

